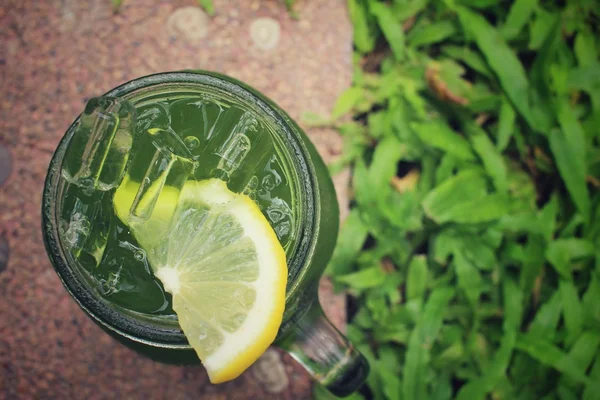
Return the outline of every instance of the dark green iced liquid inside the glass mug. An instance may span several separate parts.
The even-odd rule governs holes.
[[[294,188],[295,182],[287,172],[289,166],[278,155],[280,144],[276,142],[274,128],[244,111],[235,99],[224,96],[221,94],[217,100],[206,93],[190,93],[175,99],[159,97],[136,104],[132,112],[132,115],[138,115],[136,136],[128,155],[130,164],[123,187],[137,189],[148,166],[168,157],[170,150],[165,147],[171,144],[171,148],[182,155],[168,171],[167,189],[177,192],[187,179],[218,177],[225,180],[230,190],[255,199],[284,249],[292,254],[296,244],[294,227],[299,224],[296,221],[299,215],[292,212],[292,193],[299,188]],[[88,106],[90,114],[101,102],[92,100]],[[158,134],[148,133],[157,129],[161,129]],[[70,154],[77,163],[77,155],[82,154],[84,148],[85,143],[69,148],[63,171],[69,170]],[[161,158],[161,151],[167,153],[165,157]],[[223,155],[232,159],[230,165],[225,165]],[[100,227],[104,232],[92,232],[103,241],[100,249],[96,243],[83,251],[77,246],[70,249],[76,265],[83,269],[91,285],[115,306],[142,314],[170,316],[173,318],[168,320],[176,324],[170,296],[164,292],[148,266],[144,250],[124,224],[127,216],[119,218],[115,214],[112,193],[101,190],[87,193],[70,174],[63,174],[67,181],[73,182],[65,190],[63,237],[77,235],[77,215],[83,206],[102,210],[102,219],[106,220]],[[76,240],[71,238],[71,241]],[[288,281],[292,282],[291,279]]]

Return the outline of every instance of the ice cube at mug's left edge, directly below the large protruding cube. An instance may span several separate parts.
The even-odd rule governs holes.
[[[67,188],[62,238],[75,258],[91,257],[94,266],[102,260],[110,232],[111,203],[106,192],[86,197],[77,186]],[[86,262],[90,259],[86,258]]]

